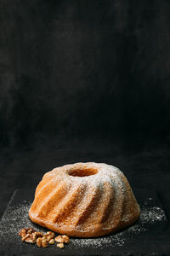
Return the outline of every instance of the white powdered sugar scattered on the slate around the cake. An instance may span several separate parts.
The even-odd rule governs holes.
[[[0,224],[1,245],[4,247],[7,246],[8,241],[11,245],[19,244],[24,247],[26,244],[22,243],[18,236],[18,232],[21,228],[32,227],[39,231],[44,230],[41,226],[31,223],[31,220],[28,217],[30,207],[31,203],[27,201],[22,201],[17,207],[8,207],[8,211],[3,216],[3,220]],[[122,230],[121,232],[112,234],[111,236],[89,239],[72,238],[71,245],[69,245],[67,249],[69,249],[69,247],[75,247],[77,249],[83,247],[91,247],[94,249],[103,247],[122,247],[128,244],[128,242],[132,240],[132,237],[136,237],[142,232],[147,232],[152,225],[162,224],[162,221],[167,221],[165,213],[161,207],[150,205],[150,201],[148,200],[141,206],[140,218],[136,224],[133,224],[133,226],[126,230]],[[30,247],[34,246],[30,245]],[[52,247],[48,247],[48,249],[51,250]]]

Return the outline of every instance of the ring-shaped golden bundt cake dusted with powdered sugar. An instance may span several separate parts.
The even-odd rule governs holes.
[[[115,166],[89,162],[45,173],[29,217],[60,234],[94,237],[133,224],[139,212],[123,173]]]

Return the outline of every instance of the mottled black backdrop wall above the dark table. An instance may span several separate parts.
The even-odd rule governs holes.
[[[0,4],[3,145],[169,142],[169,1]]]

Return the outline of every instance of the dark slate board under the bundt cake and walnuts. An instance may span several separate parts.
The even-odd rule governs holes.
[[[135,189],[141,207],[139,221],[133,226],[105,236],[104,238],[71,238],[71,243],[60,250],[55,245],[39,248],[20,241],[18,231],[23,227],[34,227],[44,231],[28,218],[28,209],[33,200],[34,189],[19,189],[9,201],[0,223],[0,250],[9,255],[120,255],[170,253],[170,224],[156,193]]]

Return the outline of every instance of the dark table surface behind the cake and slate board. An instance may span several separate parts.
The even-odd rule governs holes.
[[[37,187],[45,172],[78,161],[105,162],[119,167],[134,189],[152,189],[170,220],[170,154],[168,147],[142,151],[120,150],[108,143],[65,148],[2,149],[0,154],[0,216],[15,189]]]

